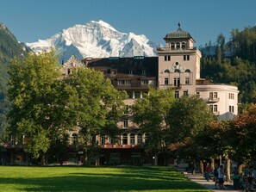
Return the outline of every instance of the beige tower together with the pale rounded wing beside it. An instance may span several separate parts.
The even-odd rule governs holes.
[[[159,88],[172,86],[175,96],[198,95],[219,120],[230,120],[238,113],[236,86],[213,84],[200,77],[201,52],[195,40],[179,28],[165,35],[165,47],[159,48]]]

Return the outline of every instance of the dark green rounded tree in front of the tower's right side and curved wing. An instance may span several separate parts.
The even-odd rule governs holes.
[[[197,157],[197,147],[191,147],[191,144],[197,145],[197,134],[213,119],[207,104],[198,96],[182,96],[173,102],[167,117],[170,139],[175,146],[172,149],[179,157]]]

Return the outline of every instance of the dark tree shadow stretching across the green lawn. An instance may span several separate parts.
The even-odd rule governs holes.
[[[118,169],[117,169],[118,170]],[[124,172],[123,172],[124,171]],[[172,177],[171,177],[172,175]],[[156,169],[122,168],[120,173],[75,171],[65,176],[1,178],[0,184],[22,191],[209,191],[182,175]],[[4,191],[4,190],[3,190]]]

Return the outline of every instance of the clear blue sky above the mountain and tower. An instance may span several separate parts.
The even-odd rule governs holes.
[[[196,46],[229,40],[232,28],[256,25],[255,0],[0,0],[0,22],[22,42],[47,39],[75,24],[103,20],[122,33],[164,43],[178,22]]]

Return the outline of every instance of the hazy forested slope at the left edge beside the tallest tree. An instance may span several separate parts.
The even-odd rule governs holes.
[[[26,46],[19,43],[9,29],[0,23],[0,134],[5,126],[5,113],[9,107],[6,96],[8,66],[11,59],[22,57],[27,51]]]

